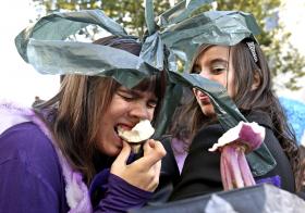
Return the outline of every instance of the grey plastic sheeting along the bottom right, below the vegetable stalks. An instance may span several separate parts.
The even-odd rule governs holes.
[[[304,210],[305,201],[296,195],[264,184],[131,210],[130,213],[303,213]]]

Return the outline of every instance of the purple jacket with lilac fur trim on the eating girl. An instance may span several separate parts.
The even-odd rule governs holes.
[[[126,212],[139,208],[151,192],[103,170],[90,190],[73,171],[46,125],[30,109],[0,104],[0,213]],[[90,192],[102,188],[91,206]]]

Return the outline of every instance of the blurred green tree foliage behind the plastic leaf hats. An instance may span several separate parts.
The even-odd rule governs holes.
[[[46,11],[102,9],[107,15],[122,23],[131,33],[142,36],[145,32],[144,0],[33,0],[46,8]],[[179,2],[181,0],[171,0]],[[102,3],[101,3],[102,2]],[[156,15],[170,8],[170,0],[155,0]],[[261,45],[272,74],[290,73],[291,78],[285,87],[300,89],[297,78],[305,76],[305,58],[300,54],[290,41],[290,34],[284,32],[279,23],[281,0],[218,0],[211,7],[203,7],[199,12],[207,10],[241,10],[251,12],[260,26],[261,34],[257,36]]]

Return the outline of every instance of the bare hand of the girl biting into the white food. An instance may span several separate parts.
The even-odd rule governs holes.
[[[159,185],[161,159],[167,153],[162,143],[148,139],[144,145],[143,158],[126,165],[130,153],[131,147],[123,141],[123,148],[113,162],[110,173],[139,189],[154,191]]]

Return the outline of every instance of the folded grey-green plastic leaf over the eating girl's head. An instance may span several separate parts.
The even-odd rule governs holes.
[[[98,25],[115,36],[133,38],[102,11],[89,10],[54,13],[40,18],[16,37],[16,48],[21,57],[42,74],[111,76],[132,88],[143,78],[159,72],[130,52],[65,40],[89,24]]]

